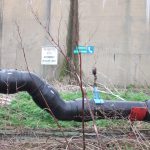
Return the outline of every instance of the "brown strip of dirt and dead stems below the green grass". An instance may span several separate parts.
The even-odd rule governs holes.
[[[65,129],[63,134],[58,129],[1,129],[0,150],[82,150],[81,129]],[[101,129],[98,139],[93,129],[85,130],[87,150],[150,149],[150,130]]]

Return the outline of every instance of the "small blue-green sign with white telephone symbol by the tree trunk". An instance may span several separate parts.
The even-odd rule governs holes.
[[[74,54],[93,54],[94,53],[94,46],[77,46],[74,49]]]

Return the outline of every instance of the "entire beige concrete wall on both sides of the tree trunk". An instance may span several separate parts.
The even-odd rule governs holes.
[[[41,65],[41,47],[50,45],[35,21],[29,3],[51,35],[66,52],[70,0],[1,0],[0,67],[26,70],[15,22],[19,24],[29,69],[45,79],[58,76],[57,66]],[[95,46],[93,55],[82,55],[85,78],[92,80],[97,67],[103,84],[150,84],[150,24],[147,0],[79,0],[80,45]],[[147,15],[146,15],[147,14]],[[59,36],[58,36],[59,35]]]

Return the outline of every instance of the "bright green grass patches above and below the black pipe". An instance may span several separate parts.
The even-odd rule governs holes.
[[[101,94],[103,99],[115,99],[110,94]],[[127,100],[144,101],[150,99],[150,96],[143,92],[132,92],[128,90],[121,92],[121,97]],[[81,98],[80,92],[67,92],[61,93],[61,97],[65,100],[74,100]],[[92,92],[88,92],[88,98],[93,97]],[[19,126],[27,128],[57,128],[54,119],[45,111],[41,110],[33,102],[32,98],[25,92],[17,94],[12,103],[5,107],[0,107],[0,128],[9,126]],[[59,121],[60,125],[64,128],[81,127],[81,123],[74,121]],[[116,120],[97,120],[99,127],[110,127],[123,125],[125,121]],[[86,126],[91,127],[92,122],[85,123]]]

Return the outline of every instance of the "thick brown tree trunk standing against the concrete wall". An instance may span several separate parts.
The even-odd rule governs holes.
[[[78,55],[74,55],[73,50],[79,41],[79,19],[78,19],[78,0],[70,0],[70,12],[67,34],[67,57],[71,65],[64,62],[63,75],[69,75],[71,79],[76,79],[74,72],[79,73]]]

